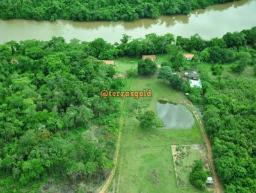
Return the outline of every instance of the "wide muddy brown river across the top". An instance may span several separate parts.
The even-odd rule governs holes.
[[[102,37],[119,42],[122,34],[141,38],[149,33],[182,35],[198,33],[202,38],[221,37],[228,31],[241,31],[256,26],[256,0],[235,1],[194,10],[190,15],[162,16],[159,19],[139,19],[132,22],[73,22],[67,20],[0,20],[0,43],[26,39],[50,40],[63,36],[92,41]]]

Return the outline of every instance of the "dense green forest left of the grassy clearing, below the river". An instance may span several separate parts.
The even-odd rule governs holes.
[[[93,49],[63,38],[0,45],[0,192],[33,192],[49,178],[89,191],[108,175],[119,104],[99,92],[122,81],[88,58]]]

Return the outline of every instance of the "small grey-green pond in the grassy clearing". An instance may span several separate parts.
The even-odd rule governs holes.
[[[159,101],[156,103],[156,111],[166,129],[190,129],[195,125],[193,114],[184,105]]]

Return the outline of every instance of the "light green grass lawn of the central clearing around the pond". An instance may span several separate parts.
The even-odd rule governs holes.
[[[160,64],[167,55],[157,56]],[[135,59],[116,60],[116,70],[125,72],[131,68]],[[136,67],[135,67],[136,68]],[[172,159],[172,144],[204,143],[198,124],[191,130],[164,130],[163,128],[141,128],[136,119],[139,111],[156,112],[157,100],[168,100],[186,105],[186,96],[170,88],[170,85],[154,77],[125,79],[125,91],[152,89],[151,98],[124,98],[124,130],[122,146],[118,158],[118,169],[109,190],[114,192],[204,192],[193,187],[179,187],[176,183]]]

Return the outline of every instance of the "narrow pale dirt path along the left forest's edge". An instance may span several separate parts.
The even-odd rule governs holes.
[[[113,160],[115,166],[111,170],[111,173],[109,174],[109,176],[108,176],[107,180],[105,181],[104,185],[99,190],[99,193],[104,193],[104,192],[106,192],[106,190],[108,190],[108,186],[111,183],[111,181],[113,179],[113,176],[115,174],[115,171],[116,171],[117,160],[118,160],[118,155],[119,155],[119,150],[120,150],[121,137],[122,137],[122,130],[123,130],[123,125],[124,125],[124,115],[123,115],[124,114],[124,101],[125,100],[123,100],[121,116],[120,116],[120,127],[118,129],[118,138],[117,138],[117,142],[116,142],[115,158]]]

